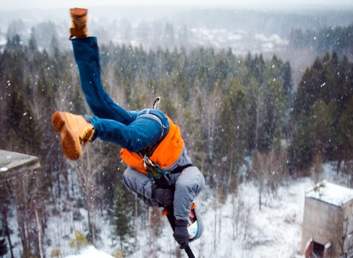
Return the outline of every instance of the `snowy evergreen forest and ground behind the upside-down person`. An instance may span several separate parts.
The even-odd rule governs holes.
[[[97,139],[78,161],[61,152],[52,113],[90,113],[68,11],[66,21],[1,12],[0,149],[41,167],[0,181],[0,256],[101,256],[93,245],[186,257],[162,210],[125,189],[119,146]],[[353,11],[181,10],[148,23],[95,12],[105,90],[130,110],[160,96],[206,179],[196,257],[300,255],[304,190],[322,179],[353,188]]]

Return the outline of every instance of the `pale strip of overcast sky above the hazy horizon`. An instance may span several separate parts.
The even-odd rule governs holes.
[[[197,5],[234,7],[350,6],[353,0],[2,0],[0,10],[23,8],[70,8],[119,5]]]

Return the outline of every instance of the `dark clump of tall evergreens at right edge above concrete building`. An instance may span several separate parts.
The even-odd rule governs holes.
[[[336,159],[338,164],[346,158],[350,141],[343,130],[349,132],[350,69],[345,57],[339,61],[335,53],[332,57],[327,53],[305,71],[292,113],[291,159],[298,168],[307,169],[316,154],[324,153],[325,159]]]

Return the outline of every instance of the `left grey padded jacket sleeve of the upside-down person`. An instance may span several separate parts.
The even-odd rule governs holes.
[[[148,176],[128,167],[122,175],[122,182],[147,206],[158,207],[158,202],[152,200],[152,180]]]

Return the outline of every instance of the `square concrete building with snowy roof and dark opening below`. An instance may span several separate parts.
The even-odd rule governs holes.
[[[305,257],[353,257],[353,189],[326,182],[305,191]]]

